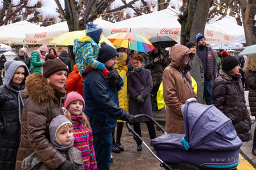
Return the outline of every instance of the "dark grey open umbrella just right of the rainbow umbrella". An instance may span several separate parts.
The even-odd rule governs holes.
[[[158,43],[162,48],[171,47],[177,44],[175,40],[168,36],[154,36],[148,39],[148,41],[150,41],[150,43]]]

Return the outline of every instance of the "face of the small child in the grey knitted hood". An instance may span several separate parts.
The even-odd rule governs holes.
[[[60,129],[56,134],[56,138],[62,145],[65,145],[65,146],[70,145],[70,143],[73,140],[72,128],[70,127],[64,128],[64,126],[60,127]]]

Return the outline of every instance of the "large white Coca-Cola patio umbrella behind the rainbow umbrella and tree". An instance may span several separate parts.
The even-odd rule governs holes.
[[[131,32],[140,34],[147,39],[153,36],[170,36],[175,41],[180,41],[180,23],[177,19],[177,14],[172,10],[161,10],[106,25],[102,27],[102,35],[130,32],[131,29]],[[204,32],[207,43],[235,43],[234,36],[220,28],[205,25]]]

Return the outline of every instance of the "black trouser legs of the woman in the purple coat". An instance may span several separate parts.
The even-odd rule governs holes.
[[[152,121],[146,121],[145,123],[148,127],[148,133],[149,133],[150,139],[155,139],[156,131],[155,131],[154,123]],[[133,124],[133,129],[141,137],[140,122],[135,122]],[[137,145],[139,145],[139,144],[141,144],[141,141],[136,141],[136,143],[137,143]]]

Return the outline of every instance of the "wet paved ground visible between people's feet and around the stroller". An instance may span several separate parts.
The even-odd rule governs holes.
[[[246,99],[248,99],[248,92],[246,92],[245,96]],[[157,122],[159,122],[159,124],[162,125],[162,127],[164,127],[165,111],[163,109],[161,111],[153,112],[153,117],[155,120],[157,120]],[[253,132],[255,125],[256,123],[252,125]],[[147,126],[145,124],[141,124],[141,131],[143,140],[148,146],[150,146],[150,138],[148,135]],[[161,136],[162,134],[162,132],[157,131],[157,136]],[[128,132],[125,126],[123,129],[121,143],[124,146],[125,151],[121,153],[113,153],[114,162],[111,164],[111,170],[164,169],[163,167],[159,166],[159,161],[147,150],[147,148],[145,148],[145,146],[142,146],[143,149],[141,152],[136,150],[136,141],[134,141],[132,133]],[[150,146],[150,148],[154,152],[154,148],[152,146]],[[253,163],[256,164],[255,156],[252,154],[252,140],[243,143],[241,150],[252,160]]]

